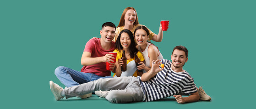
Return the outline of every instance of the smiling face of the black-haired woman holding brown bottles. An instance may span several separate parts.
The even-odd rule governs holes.
[[[131,45],[131,38],[130,38],[130,36],[127,33],[125,33],[125,32],[123,32],[120,36],[121,36],[120,37],[120,43],[121,43],[123,49],[129,50],[129,47]]]

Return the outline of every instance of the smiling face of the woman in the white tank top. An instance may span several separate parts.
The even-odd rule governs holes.
[[[147,45],[147,40],[148,40],[148,35],[147,32],[143,29],[136,30],[135,35],[135,40],[137,45],[143,46]]]

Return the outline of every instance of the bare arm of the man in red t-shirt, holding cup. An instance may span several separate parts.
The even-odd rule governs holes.
[[[84,65],[84,66],[85,65],[98,64],[98,63],[101,63],[101,62],[109,62],[111,64],[110,61],[114,62],[114,60],[112,60],[112,59],[115,59],[113,56],[114,56],[113,54],[106,54],[102,57],[92,58],[91,53],[85,51],[82,54],[81,64]]]

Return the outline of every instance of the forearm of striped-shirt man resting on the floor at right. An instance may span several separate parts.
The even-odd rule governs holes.
[[[182,97],[181,95],[174,95],[174,97],[179,104],[196,102],[200,99],[198,92],[191,93],[191,95],[188,97]]]

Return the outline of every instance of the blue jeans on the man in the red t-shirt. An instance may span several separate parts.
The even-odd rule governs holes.
[[[80,85],[100,78],[113,78],[112,76],[102,77],[96,74],[79,72],[63,66],[57,67],[54,71],[54,74],[66,87]]]

